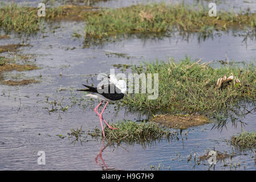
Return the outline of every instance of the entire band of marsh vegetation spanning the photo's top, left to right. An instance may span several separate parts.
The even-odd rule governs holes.
[[[89,3],[90,4],[90,3]],[[133,5],[120,9],[99,10],[85,5],[62,5],[46,9],[45,17],[38,17],[38,8],[17,6],[15,3],[0,9],[0,27],[5,32],[34,34],[42,31],[44,23],[58,20],[84,20],[86,39],[116,38],[117,35],[169,35],[171,31],[200,32],[204,36],[213,31],[230,28],[254,30],[254,13],[235,14],[221,11],[210,17],[202,6],[153,4]]]

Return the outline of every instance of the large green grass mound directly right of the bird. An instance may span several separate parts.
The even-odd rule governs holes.
[[[229,65],[214,69],[186,57],[177,64],[171,60],[168,63],[144,63],[140,67],[134,66],[133,72],[159,74],[159,96],[156,100],[148,100],[148,96],[152,95],[148,93],[133,93],[124,97],[123,104],[137,110],[213,114],[229,109],[239,100],[256,98],[254,64],[246,68]],[[223,89],[216,89],[218,78],[232,74],[241,82],[231,82]]]

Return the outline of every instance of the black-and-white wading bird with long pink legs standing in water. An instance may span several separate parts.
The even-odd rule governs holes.
[[[84,91],[84,92],[90,92],[90,94],[87,94],[87,97],[90,98],[96,98],[98,100],[101,100],[99,105],[97,105],[94,109],[95,113],[99,116],[100,119],[100,125],[103,133],[103,137],[105,138],[105,133],[103,129],[103,123],[102,120],[105,122],[105,124],[109,127],[111,130],[117,130],[115,127],[111,127],[108,125],[108,123],[103,118],[102,114],[105,110],[105,107],[108,105],[108,102],[118,101],[121,100],[126,92],[127,86],[126,82],[124,80],[117,80],[115,75],[109,75],[108,80],[110,84],[102,85],[98,88],[92,87],[89,85],[84,85],[85,89],[77,89],[78,91]],[[106,102],[105,106],[103,107],[103,110],[101,110],[101,113],[98,113],[97,108],[103,104],[103,102]]]

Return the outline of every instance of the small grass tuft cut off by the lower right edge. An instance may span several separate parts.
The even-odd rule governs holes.
[[[256,132],[243,132],[238,136],[231,137],[230,143],[240,150],[256,148]]]

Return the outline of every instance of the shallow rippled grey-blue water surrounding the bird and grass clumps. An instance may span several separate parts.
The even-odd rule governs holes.
[[[140,61],[155,61],[155,59],[168,61],[169,56],[174,60],[180,60],[185,55],[192,59],[202,59],[208,62],[212,60],[214,67],[219,67],[218,60],[225,60],[227,55],[230,60],[236,62],[245,61],[249,63],[256,58],[255,40],[248,39],[244,42],[243,36],[233,36],[232,32],[222,35],[214,35],[198,42],[198,35],[192,34],[187,37],[174,34],[169,38],[159,39],[138,39],[129,38],[116,42],[108,42],[103,46],[91,46],[83,48],[83,39],[72,37],[74,31],[82,34],[83,23],[62,22],[60,28],[55,32],[47,31],[37,36],[29,37],[25,42],[32,47],[22,47],[24,55],[35,54],[31,59],[32,63],[39,65],[42,69],[23,72],[19,78],[32,77],[40,80],[39,84],[27,86],[6,86],[0,85],[0,169],[68,169],[68,170],[101,170],[101,169],[151,169],[151,166],[158,166],[160,169],[168,170],[206,170],[206,165],[194,166],[194,162],[187,162],[189,154],[196,153],[204,155],[205,150],[212,150],[214,147],[220,152],[231,153],[233,149],[226,141],[231,136],[241,133],[241,125],[237,127],[228,122],[226,128],[212,129],[214,123],[190,128],[187,131],[188,139],[174,139],[172,142],[161,141],[151,147],[143,148],[140,144],[134,146],[121,146],[116,148],[107,147],[102,153],[105,166],[96,163],[95,158],[100,153],[101,141],[90,139],[88,142],[72,143],[75,138],[68,138],[70,129],[83,126],[84,130],[92,130],[95,126],[100,128],[99,118],[92,110],[98,102],[82,101],[82,105],[72,105],[74,100],[71,96],[72,88],[81,88],[81,84],[97,83],[98,74],[109,72],[113,64],[139,64]],[[235,33],[242,34],[241,32]],[[44,38],[43,38],[44,36]],[[22,43],[23,39],[11,35],[11,39],[0,40],[0,44]],[[51,45],[51,46],[50,46]],[[74,48],[75,49],[72,49]],[[126,53],[127,57],[107,55],[108,52]],[[8,53],[3,53],[5,56]],[[1,55],[1,56],[2,56]],[[115,69],[116,73],[121,72]],[[125,73],[129,73],[129,69]],[[6,79],[17,72],[6,73]],[[60,76],[60,73],[62,76]],[[42,77],[39,77],[39,76]],[[59,88],[67,89],[59,92]],[[76,98],[84,97],[82,93],[72,91]],[[70,106],[66,111],[55,111],[48,113],[45,109],[51,109],[48,101],[62,101],[62,106]],[[21,98],[21,100],[19,99]],[[105,110],[104,118],[107,121],[121,119],[139,118],[136,111],[129,112],[125,109],[114,108],[109,105]],[[56,106],[58,108],[58,106]],[[247,105],[246,109],[253,109],[253,105]],[[141,115],[141,117],[146,117]],[[256,113],[247,114],[241,118],[247,125],[243,126],[246,131],[255,131]],[[212,130],[211,130],[212,129]],[[185,131],[184,131],[185,133]],[[63,135],[60,138],[56,135]],[[107,143],[104,143],[104,146]],[[46,165],[38,165],[38,151],[46,153]],[[254,158],[251,158],[250,151],[247,155],[239,154],[231,160],[233,165],[241,163],[237,170],[255,169]],[[254,156],[254,155],[252,155]],[[98,158],[99,163],[103,160]],[[227,159],[228,160],[228,159]],[[212,168],[211,168],[212,169]],[[218,162],[215,169],[229,170]],[[232,167],[231,169],[235,169]]]

